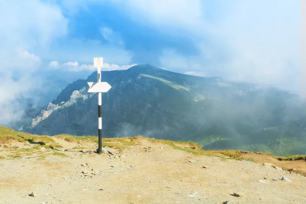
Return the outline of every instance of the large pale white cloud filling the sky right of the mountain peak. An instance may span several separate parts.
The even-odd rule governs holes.
[[[204,4],[202,9],[204,16],[208,8]],[[199,55],[165,50],[160,56],[163,67],[299,90],[299,1],[237,0],[212,12],[218,16],[213,21],[202,18],[199,25],[204,26],[193,27],[190,35]]]

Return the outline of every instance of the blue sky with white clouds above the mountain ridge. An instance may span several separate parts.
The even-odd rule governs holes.
[[[33,73],[90,73],[99,56],[105,70],[149,63],[299,92],[300,15],[298,0],[4,0],[0,107]]]

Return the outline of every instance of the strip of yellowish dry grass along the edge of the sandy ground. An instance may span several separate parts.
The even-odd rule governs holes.
[[[79,144],[84,144],[84,142],[92,142],[97,144],[98,138],[95,136],[73,136],[68,134],[61,134],[53,136],[55,138],[64,139],[67,142],[75,142]],[[48,150],[54,150],[56,148],[63,148],[59,143],[55,142],[53,137],[50,136],[40,136],[40,135],[32,135],[23,132],[17,132],[10,128],[0,126],[0,144],[10,144],[12,142],[23,142],[25,145],[34,145],[34,147],[30,149],[18,149],[14,151],[14,156],[8,156],[7,158],[18,158],[17,156],[31,155],[31,154],[39,154],[38,152],[42,147]],[[103,147],[110,147],[119,150],[119,152],[123,151],[126,147],[135,146],[141,144],[142,140],[148,140],[152,143],[162,143],[167,144],[173,149],[181,150],[185,152],[189,152],[194,155],[205,155],[205,156],[216,156],[222,159],[236,159],[236,160],[244,160],[244,154],[264,154],[267,156],[271,156],[269,153],[256,153],[256,152],[247,152],[247,151],[237,151],[237,150],[203,150],[200,145],[192,141],[171,141],[171,140],[163,140],[163,139],[154,139],[147,138],[143,136],[137,137],[122,137],[122,138],[103,138],[102,144]],[[7,149],[13,149],[13,147],[7,147]],[[82,150],[86,149],[86,147],[74,147],[71,150]],[[55,156],[68,157],[67,155],[59,152],[52,153]],[[45,156],[39,158],[44,159]],[[291,155],[287,157],[275,157],[278,160],[299,160],[305,159],[304,155]],[[5,157],[0,157],[0,159],[5,159]]]

